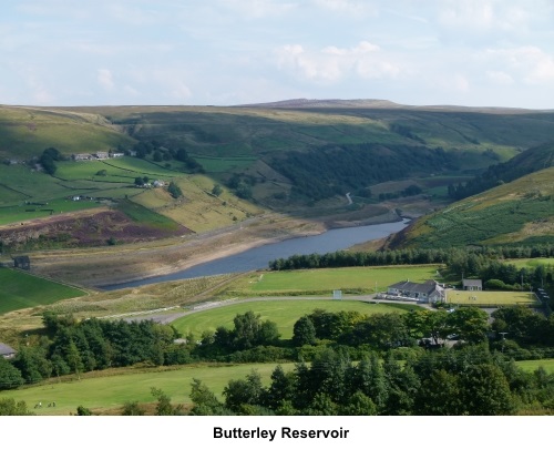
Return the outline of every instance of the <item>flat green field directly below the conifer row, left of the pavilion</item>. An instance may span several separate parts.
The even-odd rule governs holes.
[[[343,293],[383,292],[391,284],[410,279],[424,282],[437,278],[435,265],[384,266],[297,269],[285,272],[257,273],[239,279],[229,287],[229,295],[284,295],[284,294],[326,294],[335,289]]]

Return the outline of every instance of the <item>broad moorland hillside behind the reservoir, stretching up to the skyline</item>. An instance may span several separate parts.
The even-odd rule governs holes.
[[[3,228],[2,243],[12,251],[80,245],[82,227],[49,226],[51,215],[71,221],[79,211],[94,215],[106,206],[129,214],[123,201],[143,207],[127,215],[131,222],[162,226],[164,235],[212,232],[267,212],[326,226],[399,213],[421,216],[452,201],[449,185],[514,156],[529,157],[529,147],[553,141],[553,111],[417,108],[383,100],[1,106],[0,225],[23,223],[18,236]],[[50,174],[35,163],[48,147],[61,154]],[[136,156],[70,160],[110,150]],[[142,188],[137,180],[165,187]],[[183,196],[172,196],[168,183]],[[86,200],[72,201],[76,196]],[[45,221],[40,228],[49,233],[25,233],[32,220]],[[152,235],[136,229],[125,236],[115,228],[109,234],[99,233],[95,245]],[[32,242],[21,235],[32,235]]]

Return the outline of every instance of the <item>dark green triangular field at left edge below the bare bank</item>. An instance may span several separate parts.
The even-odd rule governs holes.
[[[85,292],[69,285],[0,267],[0,314],[84,295]]]

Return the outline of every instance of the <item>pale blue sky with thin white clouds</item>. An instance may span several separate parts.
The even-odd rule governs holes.
[[[0,104],[554,109],[553,0],[2,0]]]

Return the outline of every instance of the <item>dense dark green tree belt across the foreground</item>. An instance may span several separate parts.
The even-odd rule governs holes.
[[[199,380],[193,407],[171,404],[154,389],[158,415],[510,415],[554,411],[554,376],[523,373],[513,359],[552,357],[554,315],[501,308],[489,323],[475,308],[365,315],[315,309],[294,324],[290,340],[254,312],[237,314],[232,328],[205,331],[185,343],[153,322],[85,319],[45,314],[47,336],[21,345],[14,360],[0,358],[0,389],[51,376],[137,363],[295,361],[277,367],[268,387],[256,373],[230,380],[218,400]],[[459,339],[452,348],[444,343]],[[440,387],[438,387],[440,386]],[[474,396],[478,395],[478,396]],[[469,400],[469,399],[472,400]],[[18,402],[2,407],[24,414]],[[9,404],[8,404],[9,402]],[[78,410],[86,415],[90,410]],[[136,402],[125,415],[141,415]]]

